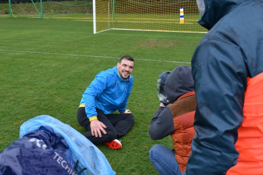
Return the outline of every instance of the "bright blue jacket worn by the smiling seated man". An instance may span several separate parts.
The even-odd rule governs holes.
[[[117,66],[99,72],[82,95],[80,104],[85,104],[87,117],[97,116],[95,106],[103,113],[125,112],[133,85],[133,76],[122,79]]]

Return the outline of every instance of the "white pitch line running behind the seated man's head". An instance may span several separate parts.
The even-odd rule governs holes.
[[[59,53],[34,52],[34,51],[14,51],[14,50],[4,50],[4,49],[0,49],[0,51],[7,51],[7,52],[26,52],[26,53],[36,53],[36,54],[49,54],[49,55],[83,56],[83,57],[93,57],[93,58],[113,58],[113,59],[120,59],[119,57],[110,57],[110,56],[77,55],[77,54],[59,54]],[[154,60],[154,59],[135,59],[135,60],[191,64],[190,62],[167,61],[167,60]]]

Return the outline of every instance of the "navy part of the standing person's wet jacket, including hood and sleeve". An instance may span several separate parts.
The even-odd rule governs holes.
[[[235,143],[244,119],[247,80],[263,72],[263,1],[204,3],[205,13],[199,24],[210,31],[192,58],[196,134],[183,175],[226,174],[237,164]],[[258,91],[262,93],[262,89]],[[262,127],[262,119],[257,120]]]

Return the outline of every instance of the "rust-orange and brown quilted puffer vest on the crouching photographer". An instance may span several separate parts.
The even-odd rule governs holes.
[[[169,104],[173,115],[174,132],[171,134],[175,149],[175,159],[179,163],[179,169],[183,172],[191,153],[191,143],[195,134],[194,113],[196,98],[194,92],[188,92],[178,98],[173,104]]]

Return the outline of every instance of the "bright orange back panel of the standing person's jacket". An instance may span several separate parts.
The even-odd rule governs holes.
[[[235,144],[239,153],[235,166],[227,175],[263,174],[263,73],[248,78],[245,91],[244,120],[238,128]]]

